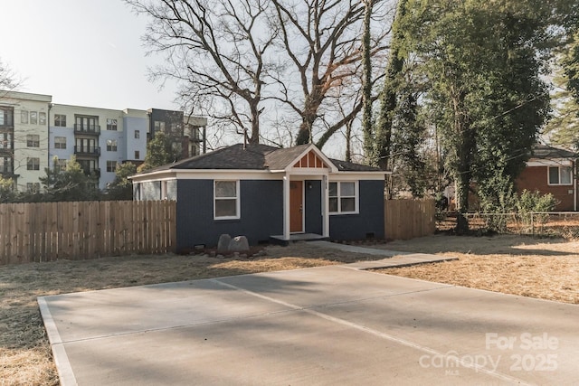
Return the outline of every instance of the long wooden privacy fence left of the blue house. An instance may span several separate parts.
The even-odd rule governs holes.
[[[0,265],[175,249],[176,202],[0,204]]]

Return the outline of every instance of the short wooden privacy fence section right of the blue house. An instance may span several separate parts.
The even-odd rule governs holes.
[[[386,200],[384,212],[386,239],[409,240],[436,231],[436,208],[432,199]]]

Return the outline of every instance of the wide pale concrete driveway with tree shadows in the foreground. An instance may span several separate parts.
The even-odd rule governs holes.
[[[579,306],[348,266],[39,304],[65,386],[579,381]]]

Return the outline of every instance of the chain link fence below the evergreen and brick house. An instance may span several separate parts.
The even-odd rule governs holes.
[[[470,231],[579,239],[579,212],[467,213]],[[456,212],[439,213],[437,231],[456,226]]]

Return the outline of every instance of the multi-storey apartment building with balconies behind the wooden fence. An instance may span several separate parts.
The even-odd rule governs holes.
[[[181,156],[197,155],[206,118],[151,108],[115,110],[53,104],[52,96],[0,93],[0,174],[18,191],[41,188],[45,168],[65,165],[74,155],[86,174],[105,189],[119,163],[143,162],[147,140],[164,131]]]

